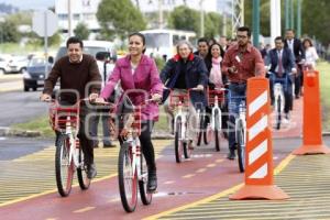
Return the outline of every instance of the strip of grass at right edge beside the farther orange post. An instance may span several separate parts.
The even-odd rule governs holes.
[[[320,62],[317,64],[317,69],[320,73],[322,129],[326,132],[330,132],[330,64],[328,62]]]

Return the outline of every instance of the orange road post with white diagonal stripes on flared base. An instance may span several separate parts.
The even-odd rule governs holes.
[[[289,197],[274,185],[268,79],[248,80],[246,107],[245,184],[229,198],[287,199]]]

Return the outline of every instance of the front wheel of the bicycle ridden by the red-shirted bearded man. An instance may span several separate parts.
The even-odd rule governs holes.
[[[238,120],[237,125],[237,142],[238,142],[238,158],[240,172],[245,170],[245,133],[242,120]]]

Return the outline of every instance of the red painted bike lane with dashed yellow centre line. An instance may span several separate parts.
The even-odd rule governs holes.
[[[297,101],[296,101],[297,102]],[[299,103],[298,103],[299,105]],[[296,106],[297,109],[298,105]],[[293,119],[298,123],[299,112]],[[300,128],[290,128],[288,136],[300,135]],[[274,136],[283,136],[279,132]],[[276,142],[276,141],[275,141]],[[142,219],[152,215],[177,208],[243,183],[237,161],[226,158],[227,142],[222,142],[221,152],[210,146],[195,150],[194,157],[180,164],[175,163],[174,147],[167,146],[157,160],[158,191],[150,206],[143,206],[139,198],[136,210],[127,213],[120,201],[118,179],[111,177],[91,184],[90,189],[81,191],[74,187],[67,198],[57,193],[20,201],[0,208],[1,219]],[[290,153],[286,141],[274,143],[275,166]],[[33,182],[31,182],[33,184]]]

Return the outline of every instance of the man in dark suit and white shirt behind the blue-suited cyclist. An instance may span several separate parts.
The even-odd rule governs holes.
[[[300,96],[301,85],[304,80],[302,68],[300,63],[305,61],[305,51],[300,40],[295,37],[295,31],[292,29],[286,30],[285,47],[288,47],[293,52],[295,63],[297,66],[297,74],[295,77],[295,96],[296,99],[298,99]]]

